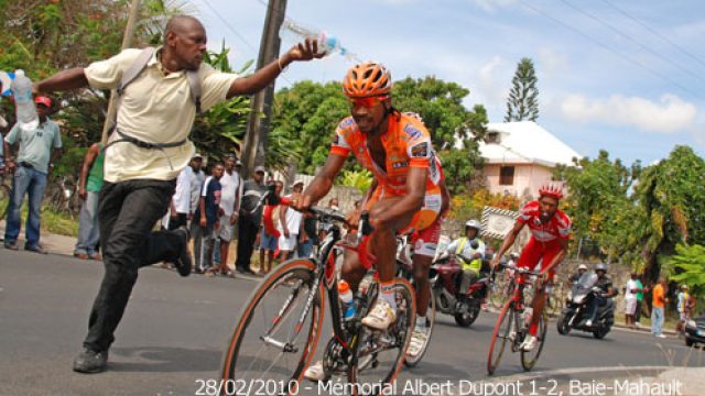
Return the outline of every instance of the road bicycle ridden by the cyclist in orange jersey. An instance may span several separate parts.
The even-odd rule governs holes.
[[[333,324],[333,338],[323,353],[326,381],[333,375],[345,376],[347,394],[381,395],[389,392],[402,367],[416,317],[413,286],[394,279],[397,320],[387,331],[360,322],[379,293],[373,278],[368,287],[360,287],[355,297],[356,315],[346,319],[338,297],[336,257],[351,250],[371,268],[369,215],[362,215],[356,240],[348,243],[338,226],[346,222],[343,215],[316,207],[310,211],[326,233],[318,254],[284,262],[251,294],[227,346],[218,389],[221,395],[236,394],[243,384],[265,384],[271,395],[300,394],[300,387],[305,386],[301,383],[304,370],[322,334],[326,295]]]

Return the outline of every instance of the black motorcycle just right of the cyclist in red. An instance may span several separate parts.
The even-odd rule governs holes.
[[[615,304],[611,298],[608,302],[599,307],[597,319],[593,321],[593,326],[587,327],[585,323],[589,319],[590,306],[596,294],[603,290],[595,286],[597,275],[585,273],[573,284],[566,298],[565,308],[561,312],[556,327],[560,334],[566,336],[571,330],[581,330],[592,332],[593,337],[601,340],[609,333],[615,323]]]

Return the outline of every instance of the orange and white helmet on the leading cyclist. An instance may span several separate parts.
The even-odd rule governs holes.
[[[392,75],[379,63],[365,62],[352,66],[343,79],[343,92],[349,98],[389,95]]]

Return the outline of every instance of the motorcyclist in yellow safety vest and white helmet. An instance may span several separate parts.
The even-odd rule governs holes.
[[[448,252],[455,254],[456,260],[463,266],[463,282],[460,295],[467,294],[470,285],[479,277],[485,255],[485,242],[479,239],[482,226],[473,219],[465,223],[465,237],[458,238],[448,244]],[[477,248],[473,245],[477,243]]]

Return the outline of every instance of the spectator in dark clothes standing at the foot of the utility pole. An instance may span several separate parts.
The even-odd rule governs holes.
[[[262,222],[262,208],[257,207],[262,195],[267,193],[267,186],[262,180],[264,180],[264,167],[257,166],[252,178],[245,182],[242,187],[242,204],[238,219],[238,258],[235,263],[235,268],[241,274],[254,275],[250,261]]]

